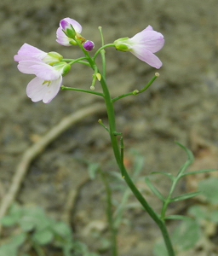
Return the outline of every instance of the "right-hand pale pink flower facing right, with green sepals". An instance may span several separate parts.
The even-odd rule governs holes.
[[[141,61],[156,68],[162,67],[162,62],[154,53],[164,46],[164,36],[147,26],[133,38],[119,38],[114,41],[115,48],[121,51],[130,51]]]

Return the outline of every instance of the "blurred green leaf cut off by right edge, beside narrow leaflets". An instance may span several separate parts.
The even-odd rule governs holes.
[[[218,204],[218,178],[209,177],[200,182],[198,188],[211,204]]]

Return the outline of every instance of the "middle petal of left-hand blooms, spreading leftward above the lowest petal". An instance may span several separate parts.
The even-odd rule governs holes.
[[[61,71],[49,66],[43,61],[20,61],[17,68],[21,73],[35,74],[39,79],[55,80]]]

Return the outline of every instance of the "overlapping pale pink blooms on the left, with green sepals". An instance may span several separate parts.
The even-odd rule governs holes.
[[[71,66],[56,53],[46,53],[30,44],[23,44],[14,55],[21,73],[34,74],[36,78],[27,84],[26,94],[32,102],[49,103],[60,90],[62,74],[68,73]]]

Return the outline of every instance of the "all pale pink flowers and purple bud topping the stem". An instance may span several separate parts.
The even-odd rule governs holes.
[[[83,38],[81,32],[82,26],[76,20],[65,18],[60,20],[56,41],[64,46],[80,44],[89,52],[95,48],[95,44]],[[133,38],[119,38],[114,41],[113,46],[118,50],[131,52],[152,67],[162,66],[162,62],[154,53],[164,46],[164,36],[153,31],[152,26],[147,26]],[[18,69],[21,73],[36,76],[26,88],[26,94],[32,102],[51,102],[60,90],[62,76],[71,69],[71,63],[64,61],[60,54],[46,53],[30,44],[21,46],[17,55],[14,55],[14,61],[18,62]]]

